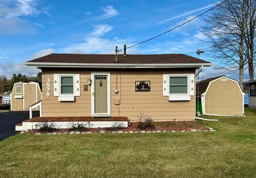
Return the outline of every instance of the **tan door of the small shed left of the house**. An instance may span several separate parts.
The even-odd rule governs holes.
[[[24,102],[25,109],[29,109],[29,106],[36,103],[36,85],[24,85]]]

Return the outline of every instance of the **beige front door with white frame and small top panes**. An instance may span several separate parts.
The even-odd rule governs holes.
[[[110,72],[92,72],[92,116],[110,116]]]

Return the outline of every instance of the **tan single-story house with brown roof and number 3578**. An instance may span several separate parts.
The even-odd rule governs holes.
[[[68,117],[93,127],[127,125],[140,113],[156,121],[194,120],[195,70],[211,66],[185,54],[49,54],[25,64],[42,70],[41,118],[61,128]]]

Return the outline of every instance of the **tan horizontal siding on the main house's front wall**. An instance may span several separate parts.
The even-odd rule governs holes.
[[[101,70],[102,71],[102,70]],[[194,69],[188,70],[126,70],[111,72],[111,116],[127,116],[130,120],[137,120],[140,113],[152,116],[154,120],[194,120],[195,96],[190,101],[169,102],[168,96],[163,96],[163,74],[194,74]],[[43,69],[43,117],[47,116],[91,116],[91,86],[88,91],[83,91],[87,85],[87,79],[91,78],[91,72],[97,70],[86,69]],[[74,102],[59,102],[57,96],[53,96],[53,74],[80,74],[81,96],[75,96]],[[50,78],[50,97],[46,97],[46,79]],[[150,80],[150,92],[135,92],[135,81]],[[115,105],[115,100],[120,104]]]

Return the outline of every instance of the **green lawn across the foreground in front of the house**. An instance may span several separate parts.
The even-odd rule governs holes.
[[[245,114],[207,117],[217,132],[17,134],[0,142],[0,177],[256,177],[256,109]]]

